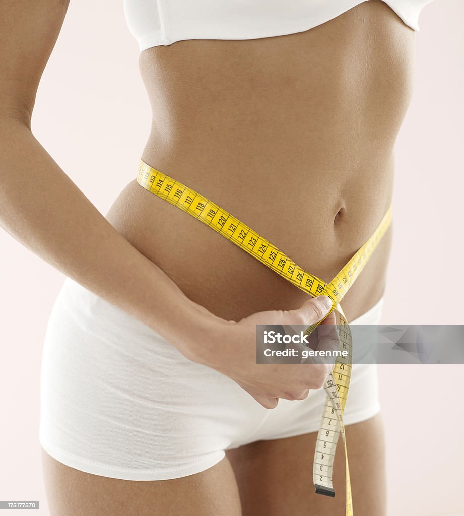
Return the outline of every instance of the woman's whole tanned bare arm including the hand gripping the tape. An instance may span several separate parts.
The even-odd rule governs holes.
[[[327,315],[329,298],[237,323],[216,317],[118,233],[34,137],[30,119],[37,87],[66,10],[62,0],[0,0],[0,225],[187,358],[232,378],[265,407],[275,407],[279,397],[306,397],[308,389],[324,383],[330,364],[257,364],[256,325],[310,325]],[[324,322],[334,325],[333,313]],[[338,334],[330,327],[321,331],[325,341],[338,346]]]

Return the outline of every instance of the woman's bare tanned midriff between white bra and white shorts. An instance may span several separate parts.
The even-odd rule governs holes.
[[[380,0],[302,33],[152,47],[139,59],[153,110],[140,157],[330,281],[391,203],[413,52],[414,31]],[[106,217],[189,298],[228,320],[307,299],[143,189],[136,168]],[[392,228],[341,303],[348,320],[383,294]]]

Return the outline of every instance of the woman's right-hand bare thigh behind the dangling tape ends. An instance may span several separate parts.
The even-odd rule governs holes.
[[[383,425],[378,414],[347,425],[353,509],[356,516],[385,516],[386,475]],[[344,516],[345,458],[340,439],[335,454],[335,497],[315,494],[312,467],[317,433],[258,441],[226,452],[242,499],[243,516]]]

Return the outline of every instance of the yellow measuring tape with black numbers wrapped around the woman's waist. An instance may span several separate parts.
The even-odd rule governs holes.
[[[349,380],[351,378],[353,342],[340,301],[348,292],[348,289],[374,252],[379,240],[389,228],[392,219],[392,206],[390,205],[377,229],[367,239],[366,243],[351,257],[338,275],[330,283],[327,283],[302,269],[289,256],[225,209],[188,186],[150,167],[143,160],[140,160],[137,183],[154,193],[157,197],[170,202],[208,225],[211,229],[214,229],[214,231],[226,237],[233,244],[293,283],[303,292],[312,297],[328,296],[332,300],[332,308],[327,315],[333,310],[339,312],[341,321],[341,324],[338,325],[340,343],[342,350],[346,350],[348,356],[337,357],[332,372],[324,384],[327,400],[317,436],[313,464],[313,482],[316,493],[335,496],[332,486],[333,459],[341,433],[345,448],[346,464],[346,516],[353,516],[345,426],[343,424],[343,411],[345,410]],[[305,333],[311,333],[321,324],[322,320],[309,326]]]

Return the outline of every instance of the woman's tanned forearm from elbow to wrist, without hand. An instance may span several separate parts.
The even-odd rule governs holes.
[[[216,320],[118,233],[29,128],[11,119],[0,120],[0,225],[181,352]]]

